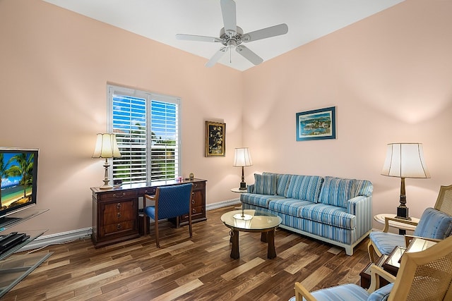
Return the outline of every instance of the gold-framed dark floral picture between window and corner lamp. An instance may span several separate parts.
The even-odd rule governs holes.
[[[206,121],[206,156],[225,156],[226,123]]]

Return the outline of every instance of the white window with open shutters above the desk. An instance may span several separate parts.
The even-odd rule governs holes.
[[[108,85],[109,131],[121,158],[112,178],[122,183],[174,180],[180,171],[180,99]]]

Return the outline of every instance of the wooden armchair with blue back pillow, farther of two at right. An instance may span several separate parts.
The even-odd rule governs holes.
[[[383,254],[391,254],[394,247],[406,247],[413,236],[388,233],[389,221],[416,226],[414,236],[431,240],[444,240],[452,232],[452,185],[441,186],[434,208],[425,209],[419,224],[386,217],[383,231],[371,231],[367,246],[371,262],[375,263]]]

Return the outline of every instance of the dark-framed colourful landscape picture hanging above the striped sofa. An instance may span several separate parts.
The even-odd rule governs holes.
[[[297,141],[335,139],[335,114],[335,106],[297,113]]]

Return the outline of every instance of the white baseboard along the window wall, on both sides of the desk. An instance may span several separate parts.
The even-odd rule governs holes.
[[[240,199],[227,199],[222,202],[218,202],[215,204],[207,204],[206,205],[206,211],[218,209],[222,207],[228,207],[235,204],[240,204]],[[62,232],[62,233],[55,233],[51,235],[43,235],[39,238],[36,238],[32,242],[30,242],[28,245],[25,245],[24,247],[20,248],[18,252],[22,251],[28,251],[28,250],[35,250],[39,249],[40,247],[47,247],[48,245],[57,245],[64,242],[70,242],[73,240],[78,240],[81,238],[89,238],[91,233],[93,231],[93,228],[84,228],[84,229],[78,229],[68,232]]]

